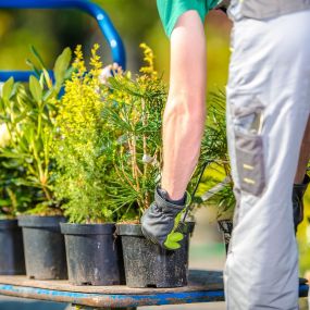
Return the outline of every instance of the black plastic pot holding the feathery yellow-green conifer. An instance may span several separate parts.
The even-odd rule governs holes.
[[[115,224],[61,224],[65,236],[69,281],[75,285],[125,284]]]

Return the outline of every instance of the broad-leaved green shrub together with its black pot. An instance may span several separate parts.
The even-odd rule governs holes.
[[[71,51],[65,49],[54,65],[54,83],[33,49],[37,65],[26,86],[10,78],[3,86],[0,113],[11,135],[2,158],[25,171],[15,179],[32,193],[28,208],[18,215],[23,228],[26,274],[30,278],[66,278],[64,240],[59,223],[65,221],[53,193],[51,152],[59,94],[67,73]],[[38,69],[37,69],[38,67]]]

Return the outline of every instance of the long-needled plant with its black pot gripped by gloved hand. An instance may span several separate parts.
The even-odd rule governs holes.
[[[163,250],[147,240],[140,216],[153,199],[162,166],[161,126],[166,88],[153,67],[152,51],[146,46],[147,65],[140,74],[115,73],[108,80],[102,117],[113,144],[112,177],[108,202],[119,210],[117,234],[122,239],[126,284],[129,287],[176,287],[187,284],[188,241],[194,224],[184,223],[182,247]]]

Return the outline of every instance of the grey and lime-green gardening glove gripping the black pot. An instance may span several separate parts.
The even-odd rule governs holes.
[[[184,236],[177,230],[186,207],[186,197],[185,194],[182,200],[171,201],[165,190],[156,188],[154,201],[141,218],[141,230],[147,239],[168,250],[181,248],[179,241]]]

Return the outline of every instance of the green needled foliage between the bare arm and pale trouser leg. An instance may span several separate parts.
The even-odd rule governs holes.
[[[207,126],[199,160],[199,170],[204,172],[195,197],[196,203],[214,207],[218,219],[232,219],[236,203],[227,151],[225,102],[223,91],[209,95]]]

